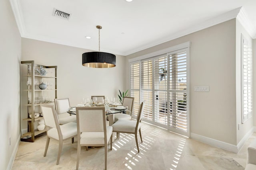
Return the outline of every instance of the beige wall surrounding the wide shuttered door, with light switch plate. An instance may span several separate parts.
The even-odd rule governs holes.
[[[191,41],[190,132],[230,143],[236,141],[236,20],[226,21],[184,37],[156,45],[128,59]],[[209,86],[209,92],[194,92],[194,86]]]

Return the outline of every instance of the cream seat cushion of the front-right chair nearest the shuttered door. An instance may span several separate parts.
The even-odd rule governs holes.
[[[137,121],[119,119],[112,125],[113,131],[135,133]],[[138,129],[140,128],[140,123]]]

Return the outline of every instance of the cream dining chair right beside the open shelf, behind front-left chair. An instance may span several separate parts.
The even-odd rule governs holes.
[[[60,125],[64,125],[69,122],[76,123],[76,115],[70,115],[67,110],[70,108],[69,99],[54,99],[55,109],[58,113]]]

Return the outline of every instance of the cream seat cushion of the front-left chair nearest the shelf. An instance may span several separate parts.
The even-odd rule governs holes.
[[[77,135],[77,126],[76,126],[76,123],[74,123],[74,122],[60,125],[60,130],[62,133],[63,140]],[[48,130],[47,135],[49,137],[59,140],[58,131],[56,128],[52,128],[52,129]]]

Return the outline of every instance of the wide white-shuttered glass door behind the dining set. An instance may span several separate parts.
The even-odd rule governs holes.
[[[188,50],[155,52],[130,62],[130,91],[136,100],[134,117],[145,100],[143,121],[189,136]]]

